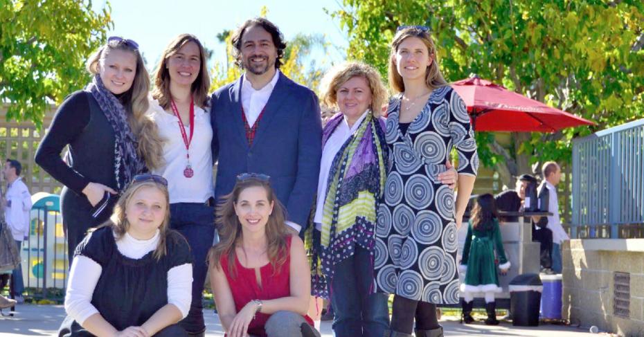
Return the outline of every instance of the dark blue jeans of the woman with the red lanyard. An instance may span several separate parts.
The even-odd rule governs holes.
[[[171,203],[170,228],[186,237],[193,253],[193,302],[179,324],[188,333],[201,332],[206,329],[202,298],[208,273],[206,256],[215,237],[215,210],[204,203]]]

